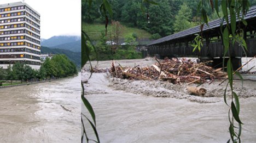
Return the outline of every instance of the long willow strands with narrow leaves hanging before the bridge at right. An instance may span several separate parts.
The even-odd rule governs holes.
[[[203,0],[201,0],[198,4],[197,7],[197,13],[200,9],[201,11],[201,18],[203,22],[208,22],[207,20],[207,15],[205,13],[205,9],[203,8],[205,6],[205,4],[202,4]],[[208,1],[211,4],[211,7],[213,8],[213,1],[210,0]],[[221,5],[221,10],[223,12],[223,17],[219,16],[219,3]],[[235,46],[235,43],[237,42],[241,48],[243,49],[244,53],[246,54],[246,50],[247,50],[247,45],[246,45],[246,40],[244,39],[245,36],[243,35],[243,26],[240,25],[240,23],[243,23],[244,26],[247,26],[247,22],[243,19],[243,17],[245,16],[245,14],[247,13],[247,11],[249,10],[249,1],[248,0],[215,0],[214,1],[214,9],[216,10],[216,13],[218,15],[219,18],[221,18],[220,20],[220,33],[222,35],[222,43],[223,43],[223,47],[224,47],[224,53],[223,53],[223,67],[224,67],[224,63],[225,63],[225,58],[226,58],[226,54],[229,53],[229,60],[227,62],[227,72],[228,72],[228,83],[226,83],[226,87],[224,90],[224,102],[225,104],[228,105],[227,103],[227,98],[226,98],[226,92],[228,89],[228,85],[230,86],[231,89],[231,105],[230,105],[230,109],[229,109],[229,122],[230,122],[230,126],[229,126],[229,132],[230,132],[230,139],[228,140],[228,142],[230,142],[230,140],[232,142],[241,142],[240,139],[240,135],[241,135],[241,130],[242,130],[242,126],[241,126],[241,120],[239,117],[239,113],[240,113],[240,103],[238,100],[238,95],[236,94],[236,92],[233,91],[233,72],[232,72],[232,55],[231,55],[231,49]],[[197,14],[198,15],[198,14]],[[241,22],[238,22],[238,24],[236,23],[236,20],[240,20]],[[226,22],[225,22],[226,21]],[[201,22],[201,21],[200,21]],[[200,29],[201,32],[201,29]],[[202,37],[202,33],[200,33],[201,37]],[[230,39],[232,40],[232,44],[230,44]],[[198,39],[195,38],[194,39],[195,44],[193,51],[195,51],[196,48],[199,47],[198,44]],[[243,79],[242,76],[235,72],[237,74],[238,77],[240,77],[241,81],[242,81],[242,88],[243,88]],[[241,93],[241,91],[240,91]],[[234,104],[235,103],[235,104]],[[232,116],[230,115],[230,110],[232,111]],[[235,127],[234,126],[234,119],[238,122],[239,127]],[[238,134],[235,132],[235,128],[238,129]],[[235,139],[236,137],[236,139]]]

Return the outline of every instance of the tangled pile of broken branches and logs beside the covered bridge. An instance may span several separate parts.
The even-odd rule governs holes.
[[[190,59],[165,58],[157,61],[152,66],[122,67],[112,62],[110,74],[113,77],[122,79],[139,80],[168,80],[173,84],[187,82],[191,83],[211,83],[214,79],[224,79],[227,74],[220,69],[213,69],[207,63],[194,63]]]

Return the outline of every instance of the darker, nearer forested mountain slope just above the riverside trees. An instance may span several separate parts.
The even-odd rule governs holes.
[[[73,52],[67,49],[59,49],[59,48],[49,48],[42,46],[41,47],[41,54],[65,54],[67,57],[77,65],[77,67],[81,66],[81,52]]]

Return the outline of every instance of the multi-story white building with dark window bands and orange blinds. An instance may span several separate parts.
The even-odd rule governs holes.
[[[0,66],[16,62],[40,68],[40,15],[22,2],[0,5]]]

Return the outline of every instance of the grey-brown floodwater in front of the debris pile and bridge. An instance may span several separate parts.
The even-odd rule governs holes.
[[[94,73],[85,84],[101,142],[226,142],[230,138],[229,107],[223,98],[217,103],[197,103],[132,94],[108,86],[105,75]],[[241,98],[240,103],[245,123],[241,140],[256,142],[256,99]],[[82,112],[88,115],[83,106]],[[88,123],[86,128],[95,139]]]

